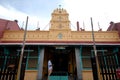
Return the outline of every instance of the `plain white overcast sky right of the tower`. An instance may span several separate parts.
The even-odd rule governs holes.
[[[80,22],[86,30],[91,30],[90,17],[93,18],[94,29],[98,30],[98,22],[103,30],[107,30],[110,21],[119,22],[119,0],[64,0],[71,23]]]

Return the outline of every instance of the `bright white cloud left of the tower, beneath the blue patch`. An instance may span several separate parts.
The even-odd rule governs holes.
[[[2,11],[2,13],[0,13],[0,18],[9,19],[9,20],[17,19],[19,26],[23,27],[23,28],[25,27],[26,18],[28,16],[29,17],[29,19],[28,19],[28,29],[29,30],[35,30],[38,27],[40,27],[41,29],[44,29],[44,27],[46,27],[46,24],[49,23],[47,18],[43,18],[40,16],[39,17],[33,16],[33,15],[29,15],[29,14],[20,12],[20,11],[16,10],[15,8],[13,8],[12,6],[3,7],[0,5],[0,11]],[[38,25],[38,23],[39,23],[39,25]]]

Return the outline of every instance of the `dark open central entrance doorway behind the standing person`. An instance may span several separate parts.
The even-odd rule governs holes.
[[[68,46],[47,46],[45,47],[43,77],[47,76],[47,62],[51,58],[53,73],[65,72],[68,76],[76,74],[75,48]]]

